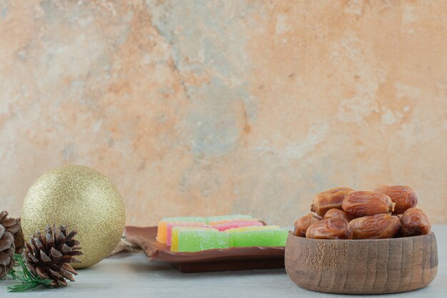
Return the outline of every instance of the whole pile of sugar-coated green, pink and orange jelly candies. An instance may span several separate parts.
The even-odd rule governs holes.
[[[228,247],[284,246],[288,230],[264,226],[250,215],[167,217],[159,222],[157,241],[173,252]]]

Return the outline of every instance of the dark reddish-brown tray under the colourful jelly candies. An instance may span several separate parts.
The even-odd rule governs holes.
[[[210,272],[284,267],[284,247],[231,247],[201,252],[171,252],[156,241],[157,227],[126,227],[126,240],[144,250],[150,262],[172,264],[180,272]]]

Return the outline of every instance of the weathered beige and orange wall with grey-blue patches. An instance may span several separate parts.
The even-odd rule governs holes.
[[[446,1],[0,0],[0,202],[89,165],[129,225],[291,225],[336,185],[447,222]]]

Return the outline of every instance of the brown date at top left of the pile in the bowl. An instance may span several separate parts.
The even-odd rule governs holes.
[[[332,209],[341,209],[341,202],[343,198],[354,190],[349,187],[333,187],[330,190],[317,193],[313,197],[311,211],[316,212],[316,214],[323,216],[325,213]]]

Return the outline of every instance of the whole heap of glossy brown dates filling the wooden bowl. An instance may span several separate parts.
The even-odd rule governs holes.
[[[430,232],[426,212],[406,185],[383,185],[374,191],[335,187],[318,193],[311,212],[295,222],[293,234],[318,239],[379,239]]]

